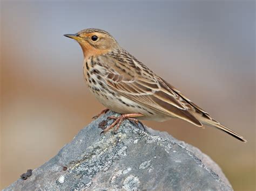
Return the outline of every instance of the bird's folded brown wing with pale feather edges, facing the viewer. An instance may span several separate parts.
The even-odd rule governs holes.
[[[151,79],[146,76],[143,77],[143,75],[134,77],[109,72],[105,80],[110,88],[134,102],[162,114],[184,119],[197,126],[203,126],[187,110],[187,105],[190,104],[161,79],[159,81],[153,77]]]

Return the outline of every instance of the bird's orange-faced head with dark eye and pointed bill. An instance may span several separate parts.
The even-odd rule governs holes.
[[[105,54],[119,48],[117,41],[110,33],[100,29],[85,29],[76,34],[64,34],[75,39],[83,49],[84,58]]]

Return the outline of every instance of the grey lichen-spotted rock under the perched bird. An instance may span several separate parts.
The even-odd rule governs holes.
[[[100,136],[108,112],[26,180],[4,190],[233,190],[221,169],[198,148],[166,132],[123,122]]]

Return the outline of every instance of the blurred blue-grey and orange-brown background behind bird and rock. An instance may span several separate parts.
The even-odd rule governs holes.
[[[109,31],[239,142],[185,121],[144,122],[198,148],[235,190],[255,190],[254,1],[1,1],[1,186],[52,158],[104,109],[65,33]]]

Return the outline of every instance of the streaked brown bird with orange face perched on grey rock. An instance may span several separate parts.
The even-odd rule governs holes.
[[[95,118],[109,110],[121,114],[109,117],[114,122],[104,133],[112,128],[117,132],[125,119],[138,124],[139,120],[179,118],[203,129],[203,125],[213,126],[246,142],[119,46],[109,32],[90,28],[64,36],[76,40],[82,48],[84,80],[92,95],[106,107]]]

